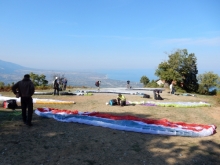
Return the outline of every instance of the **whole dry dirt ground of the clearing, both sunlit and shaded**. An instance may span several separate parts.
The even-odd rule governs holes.
[[[4,96],[13,96],[1,93]],[[125,95],[129,101],[154,101]],[[78,123],[63,123],[33,114],[33,126],[23,124],[20,109],[0,108],[0,165],[219,165],[220,106],[213,96],[161,94],[161,102],[206,101],[211,107],[109,106],[116,94],[47,96],[34,98],[71,100],[76,104],[34,104],[81,112],[104,112],[142,118],[214,124],[217,133],[208,137],[181,137],[113,130]]]

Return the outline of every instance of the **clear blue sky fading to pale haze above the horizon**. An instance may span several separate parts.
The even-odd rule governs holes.
[[[156,69],[176,49],[220,71],[220,0],[0,0],[0,59],[25,67]]]

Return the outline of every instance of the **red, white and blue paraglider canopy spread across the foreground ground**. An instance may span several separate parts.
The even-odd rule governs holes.
[[[117,116],[99,112],[79,112],[77,110],[59,110],[38,108],[35,113],[42,117],[54,118],[61,122],[76,122],[111,129],[140,133],[202,137],[216,132],[215,125],[171,122],[167,119],[144,119],[136,116]]]

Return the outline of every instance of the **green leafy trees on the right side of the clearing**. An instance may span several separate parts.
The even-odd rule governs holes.
[[[169,59],[158,65],[155,75],[170,84],[176,82],[176,89],[180,92],[215,94],[220,88],[220,77],[212,71],[198,74],[197,58],[194,53],[188,53],[187,49],[178,49],[168,55]],[[147,76],[142,76],[140,82],[145,87],[158,86],[156,81],[151,81]]]

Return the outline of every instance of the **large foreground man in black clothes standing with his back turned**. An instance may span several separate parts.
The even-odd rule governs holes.
[[[33,99],[35,88],[33,82],[30,80],[30,75],[24,75],[23,80],[18,81],[12,86],[12,91],[16,97],[21,97],[21,109],[22,119],[25,124],[32,126],[33,115]],[[26,110],[28,109],[28,116],[26,116]]]

